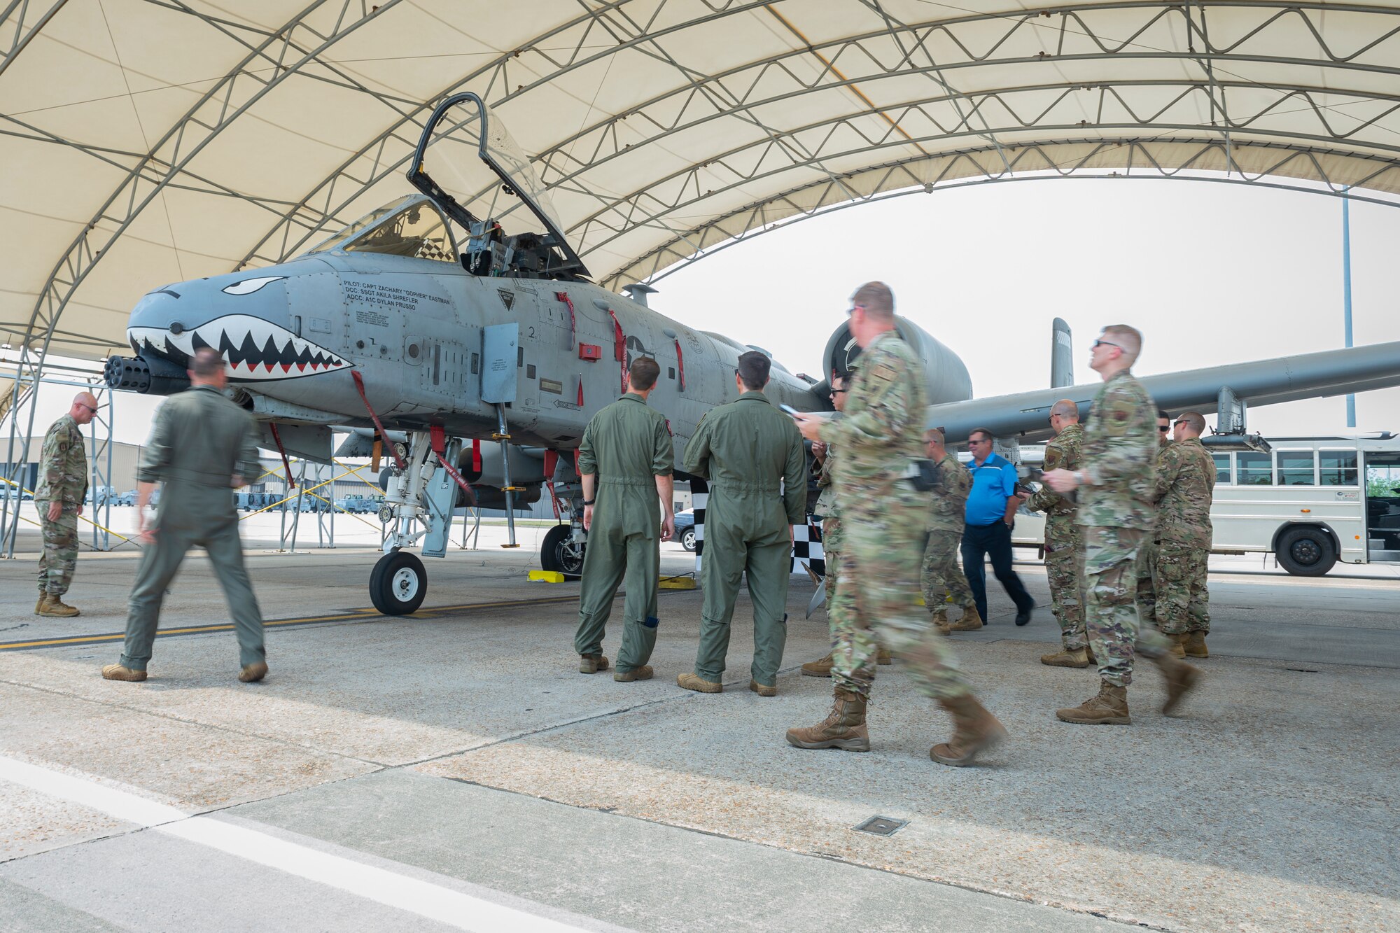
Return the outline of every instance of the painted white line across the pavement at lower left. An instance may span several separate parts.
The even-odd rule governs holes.
[[[0,755],[0,780],[22,785],[42,794],[59,797],[126,822],[134,822],[462,930],[483,933],[487,930],[522,930],[525,933],[578,933],[584,930],[580,926],[494,904],[406,874],[318,852],[309,846],[287,842],[248,827],[213,817],[195,817],[125,790],[4,755]]]

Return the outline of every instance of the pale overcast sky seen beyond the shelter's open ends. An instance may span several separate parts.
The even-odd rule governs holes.
[[[1400,340],[1400,209],[1354,203],[1351,224],[1355,343]],[[1144,375],[1309,353],[1343,346],[1341,202],[1128,179],[918,193],[720,251],[657,283],[652,307],[818,375],[847,297],[868,279],[888,282],[899,312],[962,356],[977,396],[1049,385],[1057,315],[1074,328],[1079,382],[1093,378],[1088,346],[1106,324],[1144,332]],[[36,433],[71,392],[45,392]],[[144,440],[158,402],[122,394],[118,437]],[[1344,424],[1341,398],[1249,413],[1266,436]],[[1357,426],[1400,430],[1400,389],[1358,396]]]

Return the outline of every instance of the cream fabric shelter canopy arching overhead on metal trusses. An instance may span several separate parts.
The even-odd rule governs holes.
[[[1400,3],[0,0],[0,339],[410,191],[480,94],[608,287],[853,202],[1043,174],[1400,193]]]

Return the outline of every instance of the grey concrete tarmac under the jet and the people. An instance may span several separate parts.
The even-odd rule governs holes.
[[[1131,727],[1054,719],[1095,677],[1040,665],[1049,608],[1018,629],[991,581],[952,642],[1011,740],[953,769],[897,665],[869,754],[787,745],[830,703],[797,670],[827,650],[802,577],[766,699],[746,597],[725,692],[697,695],[697,590],[661,595],[657,678],[617,684],[577,672],[577,584],[526,583],[529,541],[427,562],[396,619],[374,560],[249,556],[258,685],[202,556],[144,684],[98,674],[134,555],[83,555],[77,619],[31,615],[32,555],[0,563],[0,930],[1400,927],[1400,581],[1212,576],[1203,686],[1168,719],[1144,667]],[[904,825],[854,829],[875,815]]]

